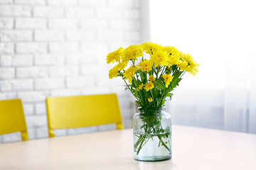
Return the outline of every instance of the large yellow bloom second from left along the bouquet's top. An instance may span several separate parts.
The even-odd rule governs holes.
[[[129,60],[137,60],[137,57],[143,56],[143,49],[140,45],[130,45],[124,50],[124,55],[121,57],[122,61],[129,62]]]

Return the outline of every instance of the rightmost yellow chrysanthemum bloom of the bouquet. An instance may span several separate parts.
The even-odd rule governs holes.
[[[178,67],[180,67],[181,70],[190,72],[193,76],[195,76],[198,73],[199,64],[197,64],[193,60],[193,57],[191,57],[191,55],[189,54],[184,54],[183,52],[181,52],[180,55],[183,62],[181,62],[181,64],[178,64]]]

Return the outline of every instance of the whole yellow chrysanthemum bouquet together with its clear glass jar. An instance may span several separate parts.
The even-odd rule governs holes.
[[[134,115],[134,158],[143,161],[170,159],[171,118],[169,113],[162,112],[164,103],[166,97],[172,96],[171,91],[178,86],[185,72],[193,76],[198,73],[199,64],[191,55],[175,47],[163,47],[153,42],[110,52],[107,63],[114,62],[117,64],[110,69],[110,79],[122,77],[126,89],[137,98],[141,112]],[[143,147],[146,148],[139,154]],[[152,155],[158,152],[161,153]]]

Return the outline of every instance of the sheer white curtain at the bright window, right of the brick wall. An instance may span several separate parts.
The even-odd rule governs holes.
[[[256,133],[256,11],[253,0],[149,1],[150,41],[200,65],[167,104],[181,125]]]

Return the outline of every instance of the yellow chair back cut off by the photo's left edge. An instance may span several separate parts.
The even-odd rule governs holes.
[[[0,101],[0,135],[12,132],[21,132],[21,139],[28,140],[21,99]]]

